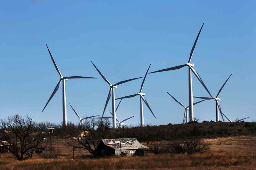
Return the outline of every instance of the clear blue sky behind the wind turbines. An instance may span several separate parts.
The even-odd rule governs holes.
[[[59,75],[46,43],[66,82],[67,119],[102,114],[109,85],[144,76],[150,71],[182,65],[189,59],[195,37],[205,23],[192,63],[210,92],[222,90],[221,106],[231,120],[256,120],[256,2],[255,1],[2,1],[0,7],[0,118],[30,114],[36,121],[62,121],[62,86],[41,112]],[[135,94],[142,79],[118,86],[115,96]],[[188,69],[149,74],[143,92],[157,120],[144,105],[145,124],[178,124],[188,104]],[[194,96],[208,96],[193,76]],[[198,100],[194,100],[198,101]],[[107,110],[111,109],[111,102]],[[105,115],[109,115],[108,111]],[[124,99],[119,119],[139,123],[139,97]],[[194,107],[194,116],[215,120],[215,102]]]

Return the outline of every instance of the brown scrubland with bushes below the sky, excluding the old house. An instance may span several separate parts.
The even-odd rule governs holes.
[[[16,119],[12,121],[12,129],[10,122],[6,124],[5,120],[1,121],[0,137],[1,140],[16,142],[16,135],[11,133],[15,132],[19,135],[18,146],[15,148],[18,156],[16,152],[0,154],[0,169],[254,169],[256,167],[256,123],[254,122],[203,122],[113,130],[107,120],[89,119],[83,126],[69,123],[64,127],[48,122],[37,124],[26,117],[21,118],[22,126],[17,125],[17,128],[14,120]],[[29,129],[27,123],[30,125]],[[48,126],[55,127],[52,148],[49,145]],[[46,139],[42,140],[43,137]],[[137,138],[142,144],[154,148],[155,152],[144,157],[93,158],[91,151],[95,149],[101,138]],[[20,145],[21,141],[23,146]],[[28,151],[23,150],[23,159],[20,159],[22,148]]]

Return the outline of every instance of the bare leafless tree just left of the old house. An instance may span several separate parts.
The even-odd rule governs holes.
[[[83,126],[70,130],[70,140],[67,145],[74,148],[86,149],[91,154],[96,149],[101,139],[106,138],[110,131],[110,121],[106,119],[86,119]]]

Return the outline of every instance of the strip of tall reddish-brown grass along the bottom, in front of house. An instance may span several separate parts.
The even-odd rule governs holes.
[[[207,152],[202,154],[165,154],[148,155],[145,157],[122,157],[104,159],[31,159],[26,161],[0,162],[0,169],[254,169],[256,167],[256,155]]]

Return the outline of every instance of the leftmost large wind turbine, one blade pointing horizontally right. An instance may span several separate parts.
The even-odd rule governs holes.
[[[46,44],[47,46],[47,44]],[[63,108],[63,125],[67,125],[67,106],[66,106],[66,90],[65,90],[65,80],[68,80],[68,79],[77,79],[77,78],[95,78],[95,77],[82,77],[82,76],[70,76],[70,77],[63,77],[62,74],[61,74],[61,71],[59,71],[58,69],[58,66],[56,65],[56,62],[54,61],[53,59],[53,56],[51,55],[51,52],[47,46],[47,49],[48,49],[48,52],[51,56],[51,60],[53,60],[53,64],[54,64],[54,67],[55,69],[57,70],[58,74],[59,74],[59,82],[57,84],[57,86],[54,88],[53,90],[53,93],[51,94],[49,100],[47,101],[45,107],[43,108],[43,110],[45,110],[47,104],[50,102],[51,98],[53,98],[54,94],[57,92],[57,90],[59,89],[59,85],[61,84],[62,82],[62,108]],[[42,112],[43,112],[42,110]]]

